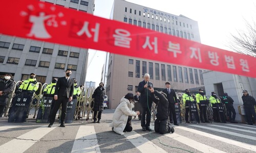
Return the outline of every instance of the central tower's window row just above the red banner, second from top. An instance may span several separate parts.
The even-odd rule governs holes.
[[[127,18],[124,17],[123,21],[127,22]],[[190,35],[189,33],[186,33],[186,32],[182,32],[182,31],[175,30],[175,29],[170,29],[170,28],[167,28],[167,27],[163,27],[163,26],[159,26],[159,25],[155,25],[155,24],[151,24],[151,23],[138,21],[138,24],[137,24],[137,20],[135,20],[135,19],[133,20],[131,18],[129,18],[128,22],[129,22],[129,24],[134,24],[134,25],[137,25],[138,27],[151,29],[151,30],[154,30],[154,31],[157,31],[157,32],[161,32],[161,33],[165,33],[165,34],[185,38],[185,39],[188,39],[188,40],[191,40],[191,38],[194,38],[194,34]]]

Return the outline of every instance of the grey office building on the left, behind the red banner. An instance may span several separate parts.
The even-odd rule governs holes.
[[[93,14],[94,0],[46,0],[45,3]],[[12,73],[15,81],[26,80],[30,73],[41,83],[63,77],[66,69],[79,85],[86,80],[88,49],[35,41],[0,34],[0,75]]]

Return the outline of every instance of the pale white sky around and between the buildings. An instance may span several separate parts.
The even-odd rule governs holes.
[[[95,0],[94,15],[109,18],[114,0]],[[256,21],[256,2],[253,0],[127,0],[162,12],[184,15],[198,21],[201,43],[226,50],[230,34],[245,30],[245,19]],[[105,52],[89,49],[86,81],[100,83]]]

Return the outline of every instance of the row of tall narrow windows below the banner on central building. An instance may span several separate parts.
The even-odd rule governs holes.
[[[133,59],[129,59],[129,64],[133,64]],[[159,63],[155,63],[155,75],[153,74],[153,62],[148,62],[148,70],[149,70],[149,74],[151,79],[155,79],[156,80],[161,80],[166,81],[166,71],[165,71],[165,64],[161,64],[161,75],[160,75],[160,65]],[[173,67],[173,78],[172,78],[172,67]],[[143,78],[143,75],[147,73],[147,62],[142,61],[142,75],[140,73],[140,61],[136,60],[136,65],[135,65],[135,78]],[[183,75],[184,73],[184,75]],[[199,76],[198,76],[199,74]],[[194,75],[195,75],[195,82],[194,82]],[[128,77],[133,77],[134,76],[134,72],[129,71],[128,72]],[[194,73],[193,73],[193,69],[192,68],[187,68],[178,66],[178,73],[177,73],[177,66],[171,66],[171,65],[167,65],[167,81],[174,81],[174,82],[178,82],[178,77],[179,77],[179,82],[180,83],[189,83],[188,81],[188,77],[190,78],[190,84],[198,84],[199,85],[199,79],[201,82],[201,85],[203,85],[204,81],[203,81],[203,74],[202,74],[202,70],[198,70],[198,69],[194,69]]]

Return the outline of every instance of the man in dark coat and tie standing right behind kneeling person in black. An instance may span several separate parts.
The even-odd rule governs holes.
[[[176,112],[175,112],[175,105],[178,105],[178,99],[177,99],[176,92],[174,89],[170,88],[169,82],[166,82],[165,86],[166,86],[166,88],[163,89],[162,92],[166,94],[166,98],[169,101],[169,108],[168,108],[169,122],[172,122],[172,118],[173,118],[174,125],[179,125],[177,122]]]

